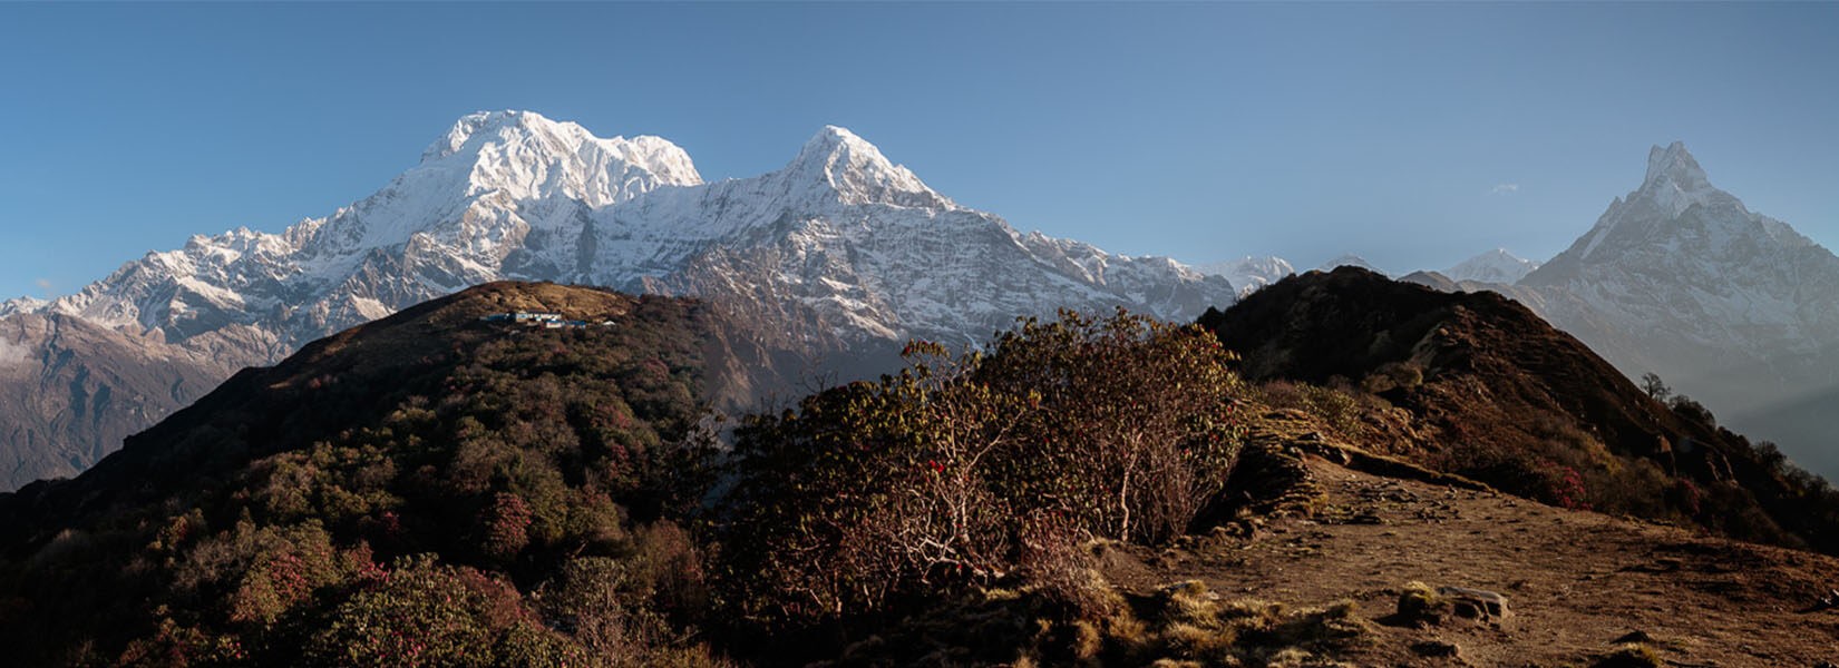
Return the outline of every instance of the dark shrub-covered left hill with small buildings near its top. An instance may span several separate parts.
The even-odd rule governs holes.
[[[480,321],[513,310],[588,325]],[[688,301],[498,283],[248,369],[0,495],[0,642],[22,664],[682,646],[706,343]]]

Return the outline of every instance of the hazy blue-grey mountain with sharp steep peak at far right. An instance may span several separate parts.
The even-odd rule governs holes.
[[[1712,187],[1685,145],[1653,147],[1640,187],[1515,295],[1624,373],[1659,373],[1740,431],[1839,473],[1830,402],[1778,415],[1839,387],[1839,257]],[[1753,418],[1764,413],[1775,418]]]

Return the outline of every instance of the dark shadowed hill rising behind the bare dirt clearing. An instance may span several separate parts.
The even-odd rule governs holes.
[[[1552,505],[1839,552],[1810,505],[1828,486],[1703,407],[1650,396],[1497,292],[1438,292],[1344,266],[1276,283],[1201,325],[1245,358],[1247,380],[1344,384],[1409,411],[1411,431],[1370,439],[1387,453]],[[1707,505],[1681,503],[1681,484]],[[1629,503],[1624,494],[1639,488],[1666,501]],[[1730,490],[1743,494],[1710,510]]]

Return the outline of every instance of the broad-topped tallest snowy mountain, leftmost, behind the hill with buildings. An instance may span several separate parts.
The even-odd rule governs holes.
[[[600,139],[537,114],[473,114],[419,165],[331,217],[281,233],[193,237],[39,310],[169,343],[254,327],[243,334],[267,343],[259,360],[274,360],[524,264],[550,261],[530,273],[566,277],[552,259],[577,251],[588,213],[697,184],[690,156],[658,138]]]

